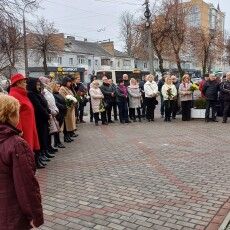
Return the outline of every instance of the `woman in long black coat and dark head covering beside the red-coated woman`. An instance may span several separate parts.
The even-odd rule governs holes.
[[[37,78],[28,79],[28,97],[34,106],[36,126],[38,130],[38,137],[41,147],[41,157],[43,161],[49,161],[47,158],[53,158],[54,156],[49,153],[49,119],[50,111],[48,104],[41,94],[42,84]]]

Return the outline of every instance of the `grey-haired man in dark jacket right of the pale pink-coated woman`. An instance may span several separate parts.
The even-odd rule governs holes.
[[[104,95],[104,104],[107,114],[108,123],[114,123],[111,119],[112,103],[115,100],[115,91],[109,84],[109,80],[106,76],[102,78],[103,84],[101,86],[101,92]]]

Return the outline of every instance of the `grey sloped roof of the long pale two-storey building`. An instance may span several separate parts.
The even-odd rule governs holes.
[[[78,41],[78,40],[69,40],[66,39],[67,44],[65,50],[75,53],[82,54],[91,54],[100,57],[111,57],[111,55],[105,51],[98,43],[87,42],[87,41]]]

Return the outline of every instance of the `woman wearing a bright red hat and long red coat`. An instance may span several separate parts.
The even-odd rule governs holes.
[[[9,95],[18,99],[20,103],[19,123],[17,128],[22,131],[22,138],[27,141],[32,151],[40,150],[34,107],[28,98],[27,78],[22,74],[15,74],[11,77],[11,87]]]

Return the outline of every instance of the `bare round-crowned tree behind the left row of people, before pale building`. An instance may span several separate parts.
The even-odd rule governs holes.
[[[48,74],[47,58],[53,57],[63,50],[64,36],[58,34],[53,23],[47,22],[44,18],[39,19],[34,32],[28,36],[28,46],[34,50],[38,59],[42,59],[45,74]]]

